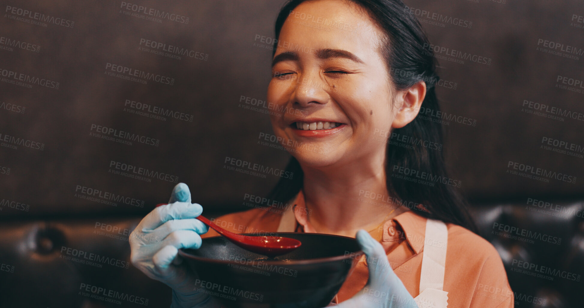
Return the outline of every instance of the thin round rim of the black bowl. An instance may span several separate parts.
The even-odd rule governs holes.
[[[257,234],[257,233],[241,233],[242,235],[252,235],[252,234]],[[333,237],[343,237],[343,238],[349,238],[350,240],[355,240],[356,238],[354,237],[348,237],[348,236],[338,236],[336,234],[325,234],[325,233],[311,233],[311,232],[277,232],[277,234],[317,234],[319,236],[333,236]],[[223,236],[210,236],[210,237],[206,237],[203,238],[203,240],[207,239],[207,238],[215,238],[215,237],[223,237]],[[204,261],[204,262],[211,262],[211,263],[218,263],[218,264],[232,264],[234,263],[234,260],[219,260],[219,259],[211,259],[211,258],[204,258],[204,257],[199,257],[197,255],[192,255],[189,254],[186,251],[183,251],[183,249],[192,249],[192,248],[180,248],[179,249],[179,255],[181,257],[186,257],[186,258],[191,258],[191,259],[195,259],[197,261]],[[355,252],[353,252],[352,254],[348,254],[348,255],[338,255],[336,257],[325,257],[325,258],[313,258],[313,259],[304,259],[304,260],[294,260],[294,263],[291,264],[290,262],[287,261],[270,261],[270,260],[262,260],[262,261],[256,261],[256,262],[264,262],[266,264],[273,264],[273,265],[306,265],[306,264],[317,264],[317,263],[321,263],[321,262],[332,262],[332,261],[340,261],[342,259],[352,259],[352,258],[356,258],[357,256],[359,258],[361,258],[361,256],[363,256],[364,252],[363,250],[357,250]]]

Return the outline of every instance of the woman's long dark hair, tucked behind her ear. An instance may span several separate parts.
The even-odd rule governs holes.
[[[281,8],[276,19],[276,40],[272,56],[276,53],[277,39],[284,21],[296,6],[305,1],[289,0]],[[421,110],[440,110],[434,85],[439,80],[436,74],[437,61],[432,50],[427,49],[429,41],[418,20],[409,13],[401,0],[347,0],[366,9],[369,16],[385,33],[381,44],[392,82],[398,91],[408,89],[420,81],[426,82],[426,96]],[[442,144],[443,131],[440,123],[432,119],[416,116],[406,126],[394,129],[396,136],[407,136],[413,140],[433,141]],[[388,143],[385,160],[387,190],[394,198],[403,202],[414,202],[422,206],[414,207],[417,214],[429,219],[454,223],[478,233],[477,226],[467,210],[467,204],[451,185],[438,181],[434,186],[412,185],[404,179],[391,177],[394,168],[409,168],[426,172],[432,177],[449,179],[442,151],[429,150],[427,147],[398,147]],[[397,167],[395,167],[397,166]],[[272,200],[290,200],[303,186],[303,171],[296,158],[292,157],[286,171],[294,172],[294,179],[281,178],[270,192]],[[396,202],[401,203],[401,202]],[[403,204],[403,203],[402,203]]]

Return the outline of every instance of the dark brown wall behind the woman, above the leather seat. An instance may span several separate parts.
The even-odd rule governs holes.
[[[0,133],[45,144],[44,151],[0,147],[0,198],[30,205],[6,207],[9,217],[44,214],[145,213],[165,202],[173,183],[138,181],[108,173],[120,161],[166,172],[190,186],[207,211],[235,209],[245,193],[263,196],[277,177],[262,179],[224,169],[225,157],[283,168],[288,154],[257,144],[271,133],[267,115],[238,107],[240,96],[265,100],[271,51],[253,46],[255,36],[273,37],[283,1],[128,1],[179,13],[188,25],[120,13],[121,1],[2,1],[6,5],[75,21],[73,28],[47,27],[0,18],[0,35],[39,44],[39,53],[0,50],[0,68],[60,82],[58,90],[0,82],[0,102],[25,106],[23,114],[0,110]],[[492,65],[440,60],[440,76],[457,89],[437,87],[446,112],[477,120],[475,127],[445,126],[444,150],[452,177],[475,203],[529,198],[575,199],[584,192],[584,160],[540,148],[552,137],[584,146],[583,122],[565,122],[521,112],[524,99],[584,113],[584,94],[555,88],[563,75],[584,79],[584,60],[537,51],[538,39],[584,48],[584,30],[571,26],[584,15],[579,1],[406,1],[413,8],[472,21],[471,29],[423,23],[439,46],[492,58]],[[208,60],[176,60],[139,51],[140,39],[208,54]],[[173,86],[147,85],[104,74],[107,62],[175,78]],[[194,115],[193,122],[166,122],[124,112],[131,99]],[[89,136],[91,124],[160,140],[159,147],[113,143]],[[506,174],[517,161],[578,177],[575,185]],[[144,208],[102,205],[76,198],[77,185],[145,200]],[[241,207],[240,207],[241,208]]]

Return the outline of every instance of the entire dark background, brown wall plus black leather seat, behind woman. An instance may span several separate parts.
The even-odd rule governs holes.
[[[499,0],[503,1],[503,0]],[[288,154],[258,144],[271,133],[264,113],[238,106],[241,96],[265,100],[271,51],[254,46],[256,36],[273,37],[283,0],[144,1],[130,3],[189,17],[189,24],[155,23],[120,13],[121,1],[0,0],[0,36],[40,45],[40,52],[0,49],[0,69],[60,82],[60,88],[32,88],[0,81],[0,133],[44,143],[43,151],[0,146],[0,307],[120,307],[79,295],[81,283],[150,299],[168,307],[171,290],[137,268],[103,268],[65,260],[62,247],[130,261],[128,234],[155,204],[168,201],[168,181],[139,181],[108,172],[110,161],[178,176],[194,202],[213,217],[247,209],[244,195],[265,196],[277,177],[265,179],[224,169],[225,157],[283,168]],[[423,23],[430,41],[492,59],[492,65],[440,60],[440,76],[456,89],[437,87],[443,110],[476,119],[475,127],[444,126],[444,151],[452,178],[472,202],[481,235],[499,252],[515,296],[544,299],[547,307],[582,306],[581,281],[549,281],[517,272],[519,259],[559,271],[584,273],[584,159],[540,148],[550,137],[584,146],[583,122],[564,122],[522,112],[524,100],[584,113],[584,94],[555,88],[558,75],[584,79],[579,60],[536,50],[538,39],[584,48],[584,29],[571,25],[584,16],[582,1],[406,0],[406,4],[472,22],[470,29]],[[73,20],[73,28],[47,27],[6,17],[6,5]],[[429,20],[423,18],[423,20]],[[584,23],[578,25],[584,26]],[[161,41],[199,53],[207,61],[176,60],[138,50],[140,39]],[[0,46],[2,46],[0,44]],[[104,74],[115,63],[175,78],[172,86],[147,85]],[[150,119],[124,111],[124,101],[148,103],[193,115],[193,122]],[[133,146],[89,136],[100,124],[160,140],[159,147]],[[578,177],[576,184],[549,183],[509,175],[507,162]],[[10,174],[3,174],[10,168]],[[75,196],[77,185],[144,201],[144,207],[117,206]],[[526,199],[541,199],[572,210],[541,213]],[[24,203],[29,210],[8,204]],[[479,206],[480,205],[480,206]],[[101,226],[124,230],[100,231]],[[527,243],[494,234],[495,223],[562,239],[561,245]],[[113,237],[119,236],[119,237]],[[6,272],[8,267],[13,272]],[[527,299],[518,307],[541,307]],[[122,306],[143,307],[124,302]]]

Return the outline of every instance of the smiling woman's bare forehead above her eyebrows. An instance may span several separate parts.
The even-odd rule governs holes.
[[[383,33],[365,9],[345,0],[307,1],[289,12],[280,30],[276,54],[284,51],[341,49],[358,57],[378,57]],[[304,51],[304,52],[303,52]]]

